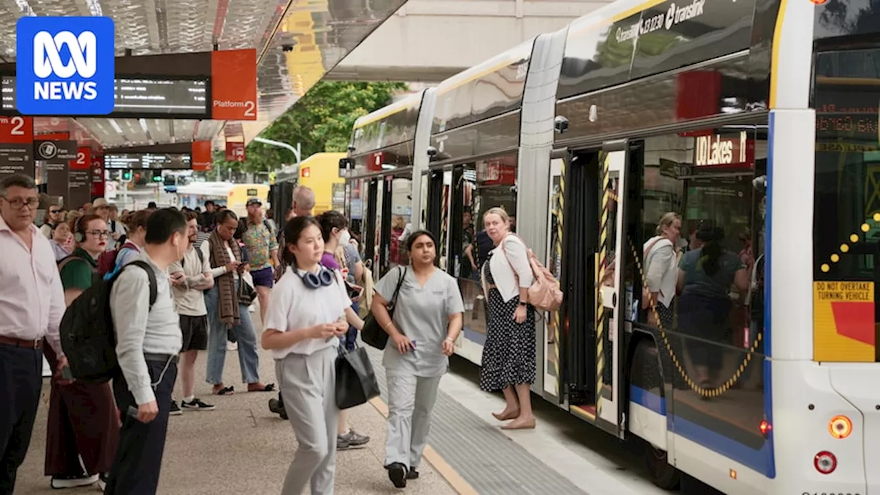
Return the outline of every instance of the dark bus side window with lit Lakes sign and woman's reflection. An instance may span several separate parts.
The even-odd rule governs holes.
[[[642,258],[639,321],[686,354],[693,383],[715,388],[761,351],[750,306],[763,192],[752,179],[766,171],[766,126],[649,137],[642,162],[641,218],[628,234]]]

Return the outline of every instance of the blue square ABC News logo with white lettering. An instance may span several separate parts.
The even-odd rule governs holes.
[[[113,18],[26,16],[18,19],[15,38],[18,113],[113,112]]]

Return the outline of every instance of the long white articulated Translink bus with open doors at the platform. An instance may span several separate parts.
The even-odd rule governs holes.
[[[466,299],[456,352],[479,365],[473,239],[502,206],[565,293],[538,320],[534,394],[640,441],[664,488],[878,491],[873,8],[620,0],[366,115],[341,163],[364,256],[392,268],[392,210],[411,208]],[[680,277],[658,314],[644,251],[670,212],[680,256],[708,233],[747,283],[695,305]]]

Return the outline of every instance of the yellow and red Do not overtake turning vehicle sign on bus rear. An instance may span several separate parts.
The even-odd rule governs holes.
[[[874,282],[813,282],[813,360],[873,363]]]

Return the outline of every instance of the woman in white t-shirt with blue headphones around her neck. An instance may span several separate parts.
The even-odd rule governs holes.
[[[282,257],[287,269],[275,284],[266,312],[262,345],[275,355],[275,374],[284,407],[297,435],[297,454],[283,495],[330,494],[336,464],[335,361],[339,337],[348,332],[351,300],[339,270],[320,264],[324,238],[312,217],[284,228]]]

